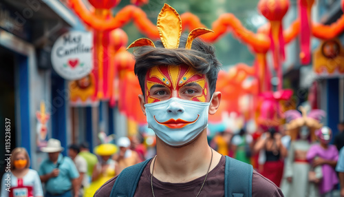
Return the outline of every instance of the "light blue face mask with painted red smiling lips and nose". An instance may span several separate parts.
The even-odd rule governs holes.
[[[144,107],[148,127],[164,143],[181,146],[192,141],[208,126],[209,105],[173,97]]]

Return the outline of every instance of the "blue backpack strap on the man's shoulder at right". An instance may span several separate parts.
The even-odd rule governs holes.
[[[224,196],[251,197],[252,173],[252,165],[226,156],[224,172]]]

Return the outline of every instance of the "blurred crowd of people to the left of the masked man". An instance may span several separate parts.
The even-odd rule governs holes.
[[[154,148],[153,148],[154,149]],[[47,153],[39,171],[30,169],[30,157],[23,147],[12,150],[10,170],[3,175],[1,197],[5,196],[94,196],[101,185],[120,174],[122,169],[145,160],[147,144],[142,136],[120,137],[116,143],[101,143],[89,150],[89,144],[68,146],[63,156],[61,141],[50,138],[41,148]],[[154,150],[153,150],[154,151]]]

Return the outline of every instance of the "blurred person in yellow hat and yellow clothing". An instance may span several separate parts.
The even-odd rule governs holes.
[[[94,153],[99,156],[98,163],[94,165],[92,183],[85,189],[85,197],[94,196],[97,189],[107,180],[114,177],[118,171],[118,164],[111,156],[118,152],[118,147],[111,143],[104,143],[94,147]]]

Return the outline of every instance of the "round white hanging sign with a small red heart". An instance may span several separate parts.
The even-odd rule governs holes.
[[[93,42],[89,32],[72,31],[52,47],[52,67],[67,80],[81,79],[93,68]]]

